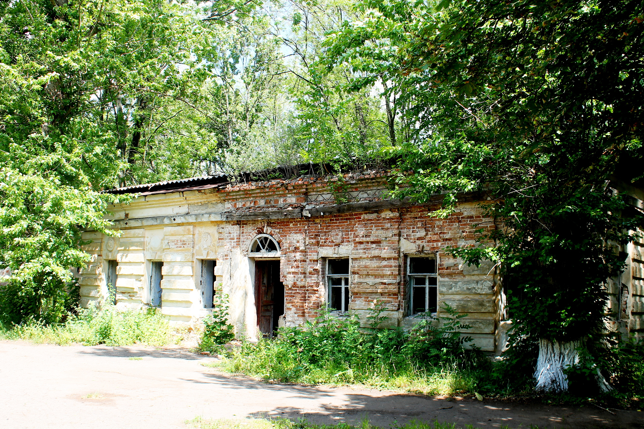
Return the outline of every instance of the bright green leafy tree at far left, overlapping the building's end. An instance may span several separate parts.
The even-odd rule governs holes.
[[[0,3],[0,291],[11,322],[61,315],[81,230],[102,220],[149,129],[155,100],[185,102],[207,77],[194,5],[149,0]],[[117,177],[118,175],[118,177]]]

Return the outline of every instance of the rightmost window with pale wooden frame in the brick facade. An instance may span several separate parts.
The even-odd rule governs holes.
[[[436,259],[410,258],[407,285],[411,295],[412,315],[436,313],[438,304]]]

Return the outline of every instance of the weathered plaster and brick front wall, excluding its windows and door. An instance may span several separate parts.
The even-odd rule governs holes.
[[[223,220],[227,215],[261,210],[302,210],[336,206],[325,180],[270,181],[227,188],[175,192],[135,198],[111,212],[118,237],[86,232],[92,260],[81,274],[81,305],[105,297],[104,261],[118,261],[117,307],[149,304],[149,273],[162,260],[162,306],[173,323],[193,324],[208,314],[200,302],[203,259],[217,262],[216,288],[229,296],[231,322],[240,336],[256,338],[254,259],[248,246],[258,233],[269,233],[281,246],[287,325],[314,317],[325,300],[324,261],[349,257],[352,266],[351,309],[364,319],[380,300],[388,324],[412,325],[406,315],[406,257],[437,255],[439,299],[468,313],[468,335],[484,350],[495,348],[500,288],[490,264],[469,267],[444,248],[473,243],[473,225],[482,219],[477,201],[459,206],[450,219],[428,216],[427,207],[410,206],[292,219]],[[382,176],[350,178],[351,196],[380,201]],[[490,220],[488,219],[488,224]],[[108,242],[113,246],[108,248]]]

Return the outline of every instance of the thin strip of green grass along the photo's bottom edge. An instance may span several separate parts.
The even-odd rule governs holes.
[[[367,419],[359,425],[352,426],[346,423],[337,424],[315,424],[307,419],[204,419],[195,417],[185,422],[189,427],[197,429],[382,429],[374,426]],[[531,429],[539,429],[537,426],[530,426]],[[455,423],[440,423],[439,421],[410,421],[406,424],[397,424],[392,429],[477,429],[471,424],[457,426]],[[502,426],[499,429],[508,429]]]

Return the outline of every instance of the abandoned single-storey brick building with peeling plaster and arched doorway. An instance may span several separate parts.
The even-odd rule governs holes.
[[[230,183],[215,176],[108,191],[137,197],[110,207],[118,237],[84,233],[92,260],[79,279],[81,305],[97,304],[113,285],[117,307],[155,306],[192,324],[223,293],[237,335],[257,338],[315,317],[325,303],[364,320],[380,302],[386,324],[401,327],[450,304],[468,314],[473,343],[498,352],[507,322],[497,270],[445,251],[474,244],[477,224],[495,227],[480,201],[465,199],[437,219],[428,212],[440,197],[433,205],[386,199],[384,172],[345,174],[341,199],[335,177]],[[627,295],[621,304],[614,294],[614,305],[642,305]]]

